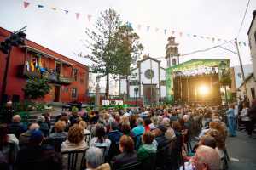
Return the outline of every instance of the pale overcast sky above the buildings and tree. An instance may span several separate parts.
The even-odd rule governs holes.
[[[167,37],[172,30],[182,31],[183,36],[175,32],[180,43],[179,52],[189,52],[209,48],[223,42],[212,42],[199,37],[216,37],[230,40],[236,37],[241,19],[247,6],[247,0],[27,0],[30,5],[23,7],[21,0],[0,0],[0,26],[15,31],[27,26],[27,38],[53,49],[60,54],[73,58],[86,65],[90,62],[79,59],[73,53],[90,52],[83,47],[81,40],[86,38],[84,30],[92,28],[99,13],[107,8],[114,8],[124,21],[131,22],[145,47],[143,53],[154,58],[164,57]],[[38,8],[42,4],[44,8]],[[50,9],[55,7],[57,10]],[[70,12],[65,14],[63,9]],[[241,29],[239,41],[247,42],[247,30],[253,19],[256,1],[252,0],[247,10],[246,20]],[[81,13],[79,20],[75,13]],[[92,15],[89,22],[87,15]],[[138,25],[142,25],[138,30]],[[150,26],[147,31],[147,26]],[[159,31],[155,31],[159,28]],[[166,35],[164,29],[167,29]],[[235,45],[224,46],[236,50]],[[248,46],[241,45],[241,58],[244,64],[251,63]],[[215,48],[205,53],[182,57],[189,59],[230,59],[230,65],[238,65],[236,54]],[[166,67],[165,59],[161,65]]]

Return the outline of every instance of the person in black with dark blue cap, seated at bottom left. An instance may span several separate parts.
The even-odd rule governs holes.
[[[15,162],[17,170],[61,170],[61,154],[41,146],[44,134],[33,130],[27,147],[21,148]]]

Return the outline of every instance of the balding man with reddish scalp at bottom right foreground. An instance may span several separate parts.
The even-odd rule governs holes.
[[[180,170],[219,170],[220,157],[216,150],[209,146],[201,145],[197,148],[195,156],[180,167]]]

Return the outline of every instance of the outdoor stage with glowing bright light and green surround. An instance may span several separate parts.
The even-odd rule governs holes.
[[[219,65],[229,59],[192,59],[166,69],[166,96],[170,103],[221,104]]]

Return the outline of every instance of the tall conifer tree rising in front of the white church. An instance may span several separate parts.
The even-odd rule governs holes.
[[[85,31],[89,37],[86,47],[91,55],[84,57],[94,63],[90,67],[91,72],[106,76],[105,93],[108,98],[110,75],[126,75],[129,72],[131,61],[139,51],[135,48],[139,37],[132,32],[132,28],[122,25],[119,14],[113,9],[101,13],[96,20],[95,30],[87,28]]]

